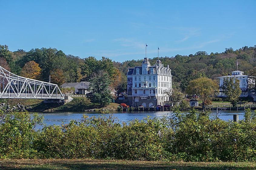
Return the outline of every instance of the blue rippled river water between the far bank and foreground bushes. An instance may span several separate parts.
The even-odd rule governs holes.
[[[50,112],[50,113],[39,113],[44,117],[44,123],[46,125],[61,125],[62,123],[69,123],[70,120],[81,120],[83,114],[86,114],[88,117],[101,117],[100,112]],[[150,117],[159,117],[162,116],[171,116],[171,111],[157,111],[157,112],[111,112],[113,117],[118,118],[118,122],[129,122],[134,119],[142,120],[143,118]],[[239,120],[244,118],[244,111],[221,111],[218,116],[222,120],[233,120],[233,114],[239,115]],[[33,115],[31,113],[31,115]],[[105,114],[108,117],[108,114]],[[210,114],[211,119],[216,119],[216,111],[212,111]]]

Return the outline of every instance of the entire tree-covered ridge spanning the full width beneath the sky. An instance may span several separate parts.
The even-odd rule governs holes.
[[[107,57],[107,56],[106,56]],[[0,65],[11,72],[29,78],[48,81],[49,75],[53,83],[89,81],[90,75],[97,70],[108,72],[113,87],[125,88],[128,68],[141,66],[141,60],[129,60],[123,63],[111,61],[102,57],[81,59],[78,56],[66,55],[55,48],[9,51],[7,45],[0,45]],[[162,63],[169,65],[173,75],[173,84],[182,90],[190,80],[198,77],[215,79],[221,75],[228,75],[238,69],[247,75],[256,76],[256,45],[242,47],[238,50],[226,48],[222,53],[206,53],[198,51],[188,56],[160,57]],[[155,64],[157,58],[150,59]]]

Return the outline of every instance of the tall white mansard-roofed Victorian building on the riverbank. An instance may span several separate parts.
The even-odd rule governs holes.
[[[171,69],[160,60],[151,66],[144,58],[142,66],[129,68],[127,73],[128,102],[133,107],[168,104],[164,91],[171,88]]]

